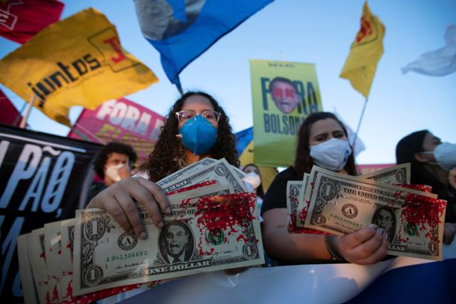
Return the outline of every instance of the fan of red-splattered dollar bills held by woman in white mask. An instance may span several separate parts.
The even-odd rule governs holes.
[[[289,232],[343,236],[375,224],[388,254],[440,261],[446,201],[410,184],[410,164],[352,177],[314,166],[287,184]]]

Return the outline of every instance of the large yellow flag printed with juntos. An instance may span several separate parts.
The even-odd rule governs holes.
[[[0,82],[64,125],[73,105],[94,110],[156,83],[120,46],[115,26],[95,9],[53,23],[0,61]]]

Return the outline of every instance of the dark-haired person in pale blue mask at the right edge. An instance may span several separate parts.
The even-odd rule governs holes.
[[[443,241],[451,243],[456,233],[456,188],[450,182],[450,170],[456,167],[456,145],[421,130],[398,142],[396,160],[398,164],[410,162],[412,184],[431,186],[439,199],[447,201]]]

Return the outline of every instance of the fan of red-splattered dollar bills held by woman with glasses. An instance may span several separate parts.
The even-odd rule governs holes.
[[[208,158],[160,180],[171,214],[158,229],[138,204],[147,239],[103,209],[19,236],[26,303],[90,303],[163,279],[264,263],[257,197],[242,177],[225,159]]]

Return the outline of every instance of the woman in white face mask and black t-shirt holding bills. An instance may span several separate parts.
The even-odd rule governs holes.
[[[286,184],[303,179],[314,164],[343,174],[356,175],[355,159],[346,128],[333,113],[316,112],[299,128],[294,165],[277,174],[261,208],[266,253],[283,264],[348,261],[371,264],[388,251],[385,229],[375,224],[346,236],[290,234],[287,230]]]

